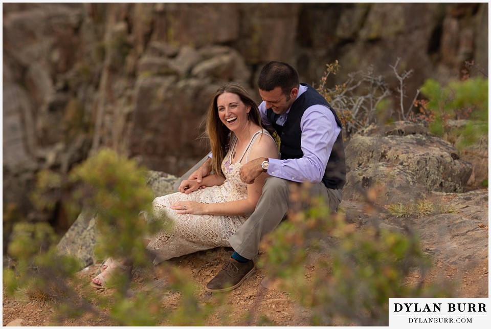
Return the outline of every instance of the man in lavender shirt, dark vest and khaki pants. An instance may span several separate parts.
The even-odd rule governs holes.
[[[242,166],[240,178],[247,184],[261,172],[267,171],[271,177],[264,183],[253,214],[230,237],[235,252],[208,282],[209,292],[235,289],[255,271],[252,259],[261,238],[278,226],[288,210],[289,184],[309,182],[311,193],[322,195],[332,211],[342,199],[346,165],[336,112],[313,87],[300,84],[297,71],[287,63],[264,65],[257,84],[263,100],[259,105],[261,120],[280,138],[280,160],[259,158]],[[199,182],[210,171],[209,161],[205,161],[189,179]],[[182,185],[180,190],[184,191],[186,186]]]

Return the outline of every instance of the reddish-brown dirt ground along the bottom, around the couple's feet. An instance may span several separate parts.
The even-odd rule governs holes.
[[[196,285],[197,289],[194,292],[198,303],[213,303],[216,296],[206,292],[204,287],[206,283],[221,269],[222,262],[229,257],[230,250],[225,248],[217,248],[213,251],[199,252],[192,255],[186,255],[168,261],[170,266],[177,267],[183,271]],[[77,275],[80,282],[76,285],[76,291],[90,302],[96,301],[95,298],[90,298],[91,294],[102,294],[110,296],[112,290],[95,290],[90,287],[88,282],[95,275],[100,264],[93,265]],[[159,266],[158,266],[159,267]],[[315,266],[309,266],[305,275],[305,280],[309,280],[310,272],[315,271]],[[483,292],[483,280],[487,282],[487,264],[482,264],[481,271],[473,273],[465,273],[460,277],[455,277],[455,268],[442,264],[435,264],[426,282],[441,280],[442,278],[455,280],[454,297],[483,297],[483,293],[487,296],[487,292]],[[165,283],[165,277],[159,274],[159,270],[153,273],[154,287],[151,289],[161,289],[161,307],[166,310],[177,308],[182,294],[175,290],[169,290],[165,284],[156,284],[159,282]],[[133,283],[136,290],[145,290],[148,281],[144,280],[145,273],[135,271],[133,274]],[[161,279],[161,280],[159,280]],[[415,274],[409,279],[409,284],[415,284],[419,280],[419,275]],[[164,287],[164,288],[160,288]],[[87,298],[89,296],[89,298]],[[250,278],[244,281],[235,291],[225,295],[226,312],[223,308],[217,308],[203,323],[206,326],[243,326],[243,325],[267,325],[267,326],[308,326],[309,312],[302,309],[291,294],[282,291],[279,285],[275,282],[270,282],[267,279],[264,271],[258,269]],[[221,307],[221,306],[220,306]],[[64,319],[56,321],[54,317],[54,309],[50,305],[39,305],[38,302],[29,302],[28,300],[15,300],[6,298],[4,293],[3,298],[3,320],[5,326],[14,320],[13,324],[23,326],[115,326],[119,325],[111,321],[107,315],[107,308],[100,309],[102,315],[94,317],[93,315],[85,315],[76,320]],[[247,317],[249,312],[252,316]],[[228,314],[228,318],[224,317]],[[232,314],[233,316],[230,316]],[[22,321],[18,322],[21,319]],[[160,323],[161,325],[172,325],[171,323]]]

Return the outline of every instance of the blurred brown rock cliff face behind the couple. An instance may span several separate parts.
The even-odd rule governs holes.
[[[4,205],[46,220],[27,198],[34,174],[101,146],[183,173],[208,150],[196,139],[212,93],[236,81],[259,100],[269,60],[318,83],[338,59],[335,83],[370,64],[390,78],[400,57],[408,93],[465,60],[487,71],[487,16],[487,3],[4,4]]]

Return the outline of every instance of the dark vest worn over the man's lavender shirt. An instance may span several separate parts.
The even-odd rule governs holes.
[[[301,83],[307,87],[307,90],[297,98],[293,103],[284,126],[276,124],[278,115],[271,108],[267,109],[267,117],[270,119],[273,127],[281,140],[280,152],[281,160],[285,159],[300,159],[303,157],[303,152],[300,147],[302,131],[300,129],[300,120],[305,110],[312,105],[325,105],[336,118],[336,123],[342,128],[341,121],[338,115],[334,112],[331,105],[319,94],[314,87],[306,83]],[[343,136],[340,133],[336,142],[332,147],[332,152],[327,161],[326,170],[322,179],[324,185],[332,189],[340,189],[346,183],[346,161],[344,156]]]

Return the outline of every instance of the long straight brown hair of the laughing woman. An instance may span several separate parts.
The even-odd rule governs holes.
[[[249,93],[240,84],[235,82],[227,82],[218,88],[213,97],[213,101],[208,108],[206,117],[206,135],[210,140],[211,151],[213,153],[212,168],[219,176],[224,177],[221,171],[221,162],[224,160],[229,148],[230,129],[224,125],[218,117],[217,98],[223,93],[233,93],[240,97],[245,106],[251,106],[248,120],[252,120],[258,126],[261,125],[261,116],[256,102],[249,96]]]

